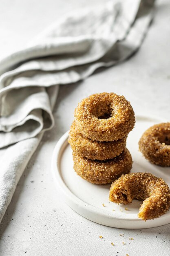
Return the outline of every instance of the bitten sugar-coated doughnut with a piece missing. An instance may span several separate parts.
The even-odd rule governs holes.
[[[170,189],[166,182],[151,173],[122,175],[111,185],[109,200],[116,204],[129,204],[133,199],[143,201],[139,218],[159,218],[170,208]]]

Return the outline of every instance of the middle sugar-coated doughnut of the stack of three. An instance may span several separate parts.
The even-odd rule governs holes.
[[[71,125],[68,142],[73,152],[88,159],[106,160],[120,155],[126,146],[126,137],[115,141],[93,141],[84,137],[76,128],[75,121]]]

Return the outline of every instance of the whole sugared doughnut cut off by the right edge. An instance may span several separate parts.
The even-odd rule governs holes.
[[[139,140],[139,150],[151,163],[170,166],[170,123],[155,124]]]

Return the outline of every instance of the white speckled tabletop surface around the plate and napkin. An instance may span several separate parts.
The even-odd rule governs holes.
[[[98,2],[104,0],[2,0],[0,57],[20,49],[66,11]],[[105,227],[79,216],[56,193],[50,171],[53,148],[69,129],[77,103],[103,91],[123,94],[136,113],[170,121],[169,0],[157,1],[152,26],[132,58],[86,81],[60,87],[56,125],[45,133],[0,225],[0,255],[170,255],[170,225],[143,230]]]

